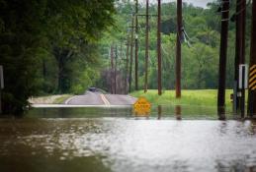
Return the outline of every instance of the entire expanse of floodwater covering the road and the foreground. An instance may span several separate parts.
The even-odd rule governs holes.
[[[38,108],[2,118],[0,171],[256,171],[255,121],[190,108],[154,107],[148,117],[130,108]]]

